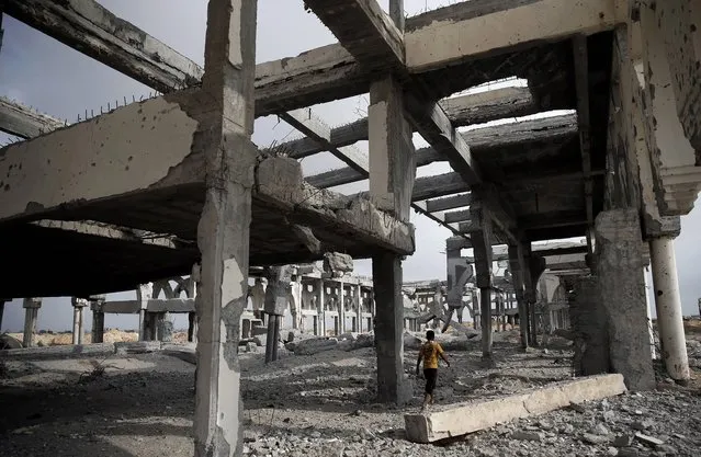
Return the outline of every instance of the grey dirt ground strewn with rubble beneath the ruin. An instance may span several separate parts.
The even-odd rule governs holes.
[[[478,342],[453,351],[441,369],[441,404],[488,398],[567,379],[564,340],[522,353],[516,332],[495,343],[497,367],[485,369]],[[692,338],[690,358],[701,357]],[[411,378],[406,408],[374,403],[372,349],[295,356],[268,366],[240,354],[247,456],[699,456],[701,395],[660,378],[655,392],[626,393],[580,410],[554,411],[441,445],[404,438],[403,413],[419,408]],[[407,351],[412,373],[416,352]],[[161,353],[106,359],[5,362],[0,379],[0,456],[192,456],[194,367]],[[104,370],[102,370],[102,368]],[[699,373],[694,373],[698,376]],[[635,433],[662,439],[652,446]],[[614,446],[615,445],[615,446]]]

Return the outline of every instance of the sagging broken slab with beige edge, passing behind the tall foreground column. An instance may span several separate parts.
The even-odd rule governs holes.
[[[206,106],[199,89],[176,92],[5,147],[0,221],[16,227],[45,218],[97,220],[194,242],[205,196]],[[366,199],[304,183],[296,160],[261,157],[255,172],[251,263],[312,261],[324,251],[355,258],[377,248],[414,252],[410,225]],[[296,227],[308,228],[321,252],[312,252]],[[128,259],[125,264],[140,277],[150,275]]]

